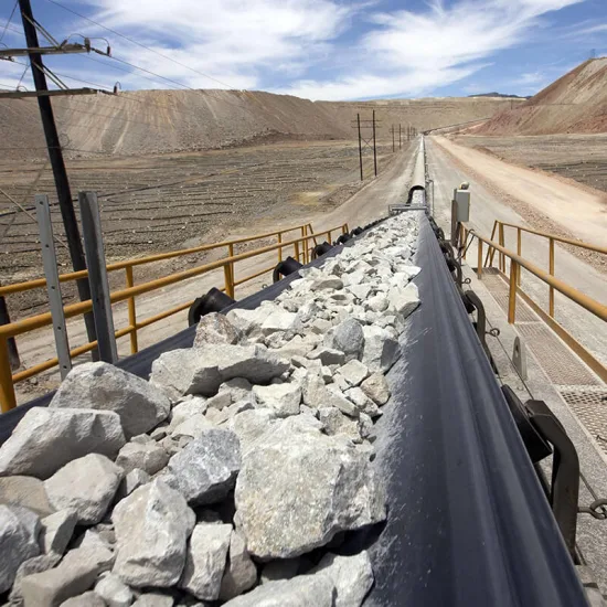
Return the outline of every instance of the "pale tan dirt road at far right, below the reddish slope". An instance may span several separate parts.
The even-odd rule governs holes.
[[[576,237],[596,245],[605,243],[607,204],[599,194],[537,171],[514,167],[444,137],[437,137],[436,142],[498,188],[549,216]]]

